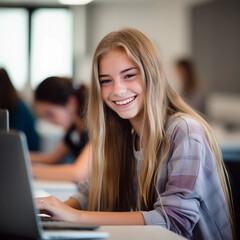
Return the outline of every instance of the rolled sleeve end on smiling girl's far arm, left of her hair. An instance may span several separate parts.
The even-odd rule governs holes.
[[[89,203],[89,179],[86,179],[84,181],[81,181],[78,184],[78,192],[73,194],[71,198],[76,199],[81,209],[84,211],[88,210],[88,203]]]

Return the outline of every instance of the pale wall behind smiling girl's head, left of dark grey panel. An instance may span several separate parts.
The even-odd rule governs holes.
[[[189,9],[210,0],[98,1],[86,7],[86,57],[78,79],[90,79],[91,57],[100,39],[110,31],[134,27],[157,46],[170,79],[178,57],[191,56]],[[76,62],[76,64],[78,64]]]

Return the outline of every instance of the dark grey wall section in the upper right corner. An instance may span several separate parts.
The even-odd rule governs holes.
[[[192,9],[193,55],[212,92],[240,95],[240,1]]]

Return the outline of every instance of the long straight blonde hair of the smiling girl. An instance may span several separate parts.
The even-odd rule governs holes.
[[[132,28],[106,35],[97,46],[93,58],[89,124],[94,150],[89,209],[136,209],[131,184],[135,169],[132,128],[128,120],[121,119],[103,102],[98,78],[99,61],[114,49],[127,53],[129,59],[140,69],[143,79],[145,101],[140,142],[144,160],[139,174],[140,209],[153,209],[157,173],[169,150],[165,123],[172,114],[185,114],[200,122],[205,130],[231,216],[228,185],[225,180],[227,173],[211,128],[170,86],[153,43],[144,34]]]

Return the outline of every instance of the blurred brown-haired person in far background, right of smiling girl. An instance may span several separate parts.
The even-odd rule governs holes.
[[[206,114],[206,93],[197,76],[193,61],[179,59],[176,62],[176,71],[184,100],[199,113]]]

